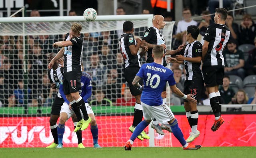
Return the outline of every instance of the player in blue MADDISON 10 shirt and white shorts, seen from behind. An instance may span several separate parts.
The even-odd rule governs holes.
[[[186,99],[188,101],[197,102],[193,98],[193,95],[184,95],[180,89],[175,85],[172,70],[162,65],[162,59],[164,57],[164,47],[161,45],[155,45],[152,50],[153,63],[143,64],[137,73],[136,77],[132,81],[132,84],[138,88],[143,89],[141,95],[141,105],[143,109],[144,120],[140,122],[130,139],[124,145],[125,150],[132,150],[132,144],[135,138],[148,126],[152,119],[158,120],[160,123],[168,122],[172,133],[182,144],[184,150],[197,150],[201,146],[188,144],[184,139],[183,133],[178,126],[178,120],[174,117],[172,111],[166,104],[163,103],[161,93],[168,81],[170,89],[176,95]],[[144,85],[140,85],[138,82],[143,78]]]

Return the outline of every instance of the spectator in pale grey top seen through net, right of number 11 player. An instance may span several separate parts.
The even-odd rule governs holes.
[[[100,61],[99,55],[94,52],[90,57],[90,64],[85,67],[85,71],[90,73],[92,81],[94,81],[97,87],[102,86],[102,81],[106,79],[106,67]]]

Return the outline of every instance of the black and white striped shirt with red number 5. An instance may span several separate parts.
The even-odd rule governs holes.
[[[222,51],[230,38],[230,30],[226,25],[214,24],[208,26],[204,40],[209,42],[208,51],[204,57],[205,66],[224,66]]]

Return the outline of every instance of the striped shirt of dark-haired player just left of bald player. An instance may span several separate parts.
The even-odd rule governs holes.
[[[128,66],[133,67],[141,67],[140,64],[140,54],[137,53],[137,55],[132,55],[129,46],[130,45],[136,45],[136,40],[134,39],[134,36],[129,34],[122,34],[120,41],[119,41],[119,49],[122,53],[123,59],[124,59],[124,68]]]

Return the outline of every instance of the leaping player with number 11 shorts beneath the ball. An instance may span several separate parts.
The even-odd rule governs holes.
[[[62,47],[62,49],[60,49],[58,54],[48,64],[48,68],[51,69],[52,65],[57,61],[57,59],[64,56],[64,94],[74,109],[78,120],[74,132],[78,131],[79,129],[85,130],[92,120],[88,116],[85,103],[78,92],[81,89],[80,78],[82,75],[81,57],[83,39],[80,36],[81,30],[81,24],[73,23],[70,28],[70,32],[66,34],[65,41],[53,43],[55,48]],[[82,119],[80,109],[84,115],[84,119]]]

